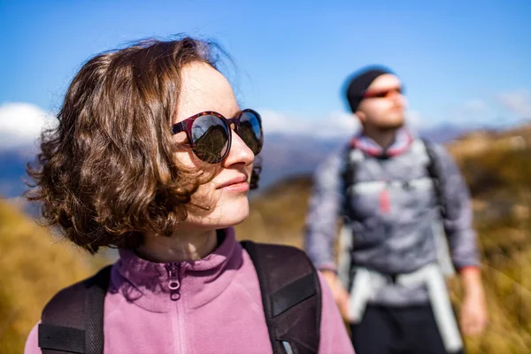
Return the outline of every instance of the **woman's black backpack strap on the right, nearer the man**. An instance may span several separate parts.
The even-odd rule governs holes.
[[[304,251],[243,241],[257,270],[273,353],[319,351],[321,289]]]

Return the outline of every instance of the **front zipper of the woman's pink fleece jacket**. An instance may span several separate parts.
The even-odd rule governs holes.
[[[173,325],[173,348],[179,353],[185,353],[185,328],[184,328],[184,307],[181,299],[181,276],[182,268],[179,263],[168,263],[165,265],[168,273],[168,289],[170,289],[170,299],[176,302],[172,307]],[[181,301],[178,301],[181,300]]]

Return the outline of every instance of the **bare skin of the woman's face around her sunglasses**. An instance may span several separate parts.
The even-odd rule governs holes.
[[[228,119],[235,117],[240,111],[227,79],[212,66],[199,62],[182,69],[181,96],[177,109],[173,124],[199,112],[219,112]],[[207,205],[211,210],[190,210],[188,219],[182,225],[183,229],[230,227],[249,215],[247,194],[254,154],[234,130],[231,133],[231,149],[227,158],[217,165],[206,165],[196,157],[189,147],[186,133],[173,136],[173,141],[180,147],[175,153],[179,165],[215,171],[212,181],[201,185],[192,196],[192,203]]]

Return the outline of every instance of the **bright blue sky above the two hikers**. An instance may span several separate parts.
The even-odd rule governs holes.
[[[266,128],[349,119],[340,88],[370,64],[403,79],[421,127],[499,126],[531,118],[530,18],[528,0],[0,0],[0,105],[56,112],[92,55],[186,33],[235,59],[227,74]]]

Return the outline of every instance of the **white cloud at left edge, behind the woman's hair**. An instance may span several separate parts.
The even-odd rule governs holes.
[[[0,148],[33,145],[42,129],[54,122],[51,113],[35,104],[0,105]]]

